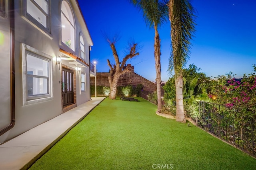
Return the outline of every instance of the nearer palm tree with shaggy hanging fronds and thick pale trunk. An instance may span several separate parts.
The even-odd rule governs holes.
[[[195,32],[194,8],[190,0],[169,0],[169,20],[171,22],[172,53],[169,59],[170,73],[174,70],[176,89],[176,121],[186,122],[183,107],[182,67],[190,55],[190,40]]]

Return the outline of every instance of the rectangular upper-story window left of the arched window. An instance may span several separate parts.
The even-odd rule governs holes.
[[[36,20],[49,30],[49,0],[24,0],[24,3],[26,18]]]

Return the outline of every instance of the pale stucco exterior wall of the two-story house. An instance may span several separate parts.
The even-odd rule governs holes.
[[[78,2],[76,0],[65,0],[70,4],[75,21],[75,51],[70,49],[62,42],[62,23],[61,23],[61,5],[62,0],[48,0],[49,2],[49,29],[42,29],[42,25],[36,20],[30,20],[24,4],[26,0],[14,1],[15,3],[15,125],[12,129],[0,136],[0,143],[7,141],[17,135],[40,125],[65,112],[62,104],[62,68],[72,70],[74,78],[73,82],[73,107],[83,104],[90,100],[90,67],[85,63],[89,61],[89,46],[92,46],[92,39],[88,32],[86,23],[81,14]],[[10,18],[8,17],[9,1],[5,0],[6,13],[0,16],[0,33],[4,35],[4,43],[0,40],[1,62],[0,62],[0,130],[10,124]],[[79,36],[84,36],[85,59],[84,62],[75,60],[68,55],[60,52],[60,49],[66,53],[72,53],[73,57],[80,58],[80,42]],[[32,51],[40,57],[49,60],[49,96],[46,98],[29,99],[27,72],[26,72],[26,52]],[[62,57],[60,69],[56,64],[56,57]],[[81,68],[81,73],[86,76],[85,91],[81,91],[80,75],[78,75],[77,67]],[[39,79],[39,78],[38,78]],[[34,79],[33,79],[34,80]],[[58,125],[56,125],[58,126]]]

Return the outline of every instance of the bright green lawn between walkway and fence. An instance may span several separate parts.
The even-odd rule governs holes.
[[[30,169],[256,169],[251,156],[138,100],[106,98]]]

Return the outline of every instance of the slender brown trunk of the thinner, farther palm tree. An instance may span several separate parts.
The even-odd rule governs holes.
[[[160,63],[160,38],[157,31],[157,27],[154,26],[155,29],[155,44],[154,44],[154,56],[155,56],[155,64],[156,64],[156,91],[157,91],[157,109],[162,109],[162,94],[161,94],[161,63]]]

